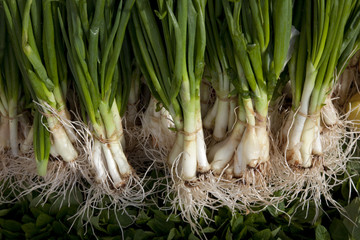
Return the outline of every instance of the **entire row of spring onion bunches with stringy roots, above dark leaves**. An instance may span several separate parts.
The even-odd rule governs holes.
[[[359,49],[358,0],[0,0],[0,204],[346,218]]]

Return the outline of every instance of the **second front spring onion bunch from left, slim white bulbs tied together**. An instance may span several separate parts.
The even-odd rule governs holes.
[[[123,99],[127,99],[131,86],[128,76],[121,73],[130,63],[126,62],[124,52],[120,59],[125,67],[121,69],[119,57],[133,4],[134,0],[119,3],[69,0],[66,15],[60,17],[83,120],[88,119],[94,131],[90,162],[95,179],[106,182],[110,176],[115,188],[126,184],[132,175],[123,150],[125,137],[120,117],[126,106]]]

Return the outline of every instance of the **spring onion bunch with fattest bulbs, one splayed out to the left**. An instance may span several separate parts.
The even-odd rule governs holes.
[[[233,52],[237,72],[233,84],[239,94],[240,109],[238,123],[229,140],[212,153],[211,164],[224,167],[234,155],[230,171],[239,177],[247,167],[257,167],[270,159],[268,104],[289,51],[293,9],[291,0],[223,1],[223,8],[232,40],[226,44],[232,44],[228,56],[231,58]]]

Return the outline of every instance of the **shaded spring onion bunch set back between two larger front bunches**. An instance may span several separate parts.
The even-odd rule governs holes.
[[[222,14],[221,1],[208,1],[205,16],[207,35],[205,62],[210,74],[209,82],[216,92],[216,100],[204,116],[203,125],[205,128],[213,129],[212,136],[218,141],[232,129],[236,107],[236,96],[230,96],[234,86],[229,76],[230,65],[225,52],[225,41],[221,39],[221,35],[224,35],[220,32],[224,29],[222,26],[224,21],[221,21]]]

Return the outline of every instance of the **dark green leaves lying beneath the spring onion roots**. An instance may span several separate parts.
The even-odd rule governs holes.
[[[352,180],[360,190],[360,164],[349,164]],[[41,202],[41,195],[33,192],[14,203],[0,205],[0,239],[360,239],[360,198],[356,191],[349,195],[349,181],[334,190],[334,198],[345,207],[347,217],[341,215],[323,202],[323,212],[315,219],[315,206],[297,209],[298,203],[279,209],[273,207],[258,214],[232,215],[229,209],[220,208],[207,214],[212,219],[199,221],[203,235],[199,236],[180,216],[170,211],[159,210],[149,200],[149,207],[128,208],[127,212],[98,211],[90,219],[74,219],[73,216],[82,202],[79,189],[67,196],[51,196]],[[14,194],[11,188],[3,189],[9,198]],[[156,199],[156,196],[152,196]],[[40,204],[39,204],[40,202]],[[157,204],[161,206],[162,200]],[[156,205],[157,205],[156,204]],[[121,227],[118,224],[118,221]],[[86,221],[90,224],[84,225]],[[96,237],[95,237],[96,236]]]

